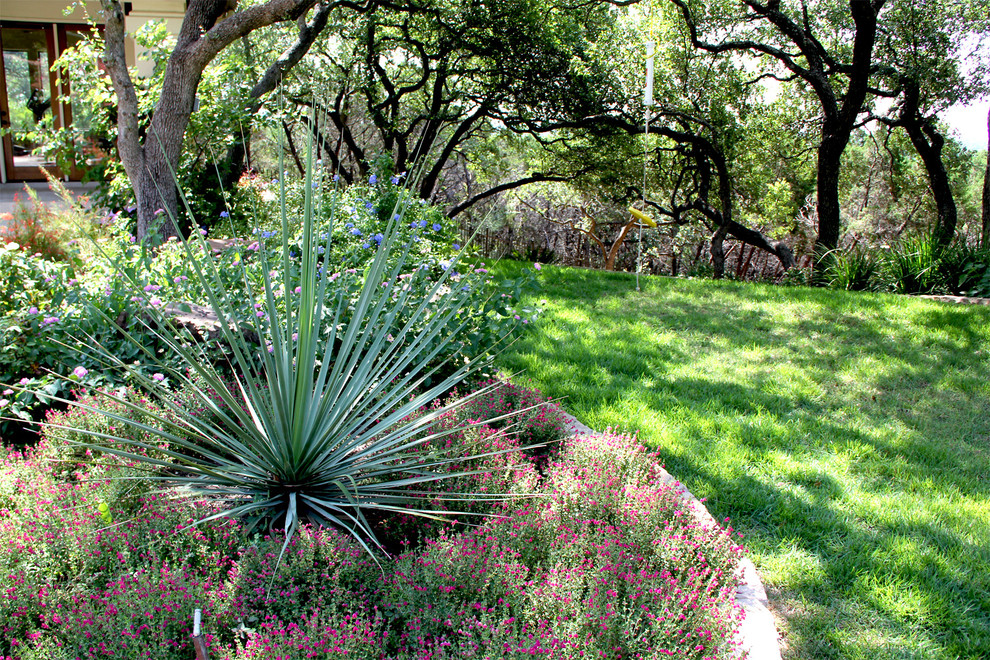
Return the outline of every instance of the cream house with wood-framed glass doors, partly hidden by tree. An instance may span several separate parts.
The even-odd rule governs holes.
[[[99,29],[102,16],[99,2],[69,0],[3,0],[0,2],[0,182],[44,179],[41,167],[53,169],[32,153],[37,146],[29,133],[40,122],[55,127],[73,122],[72,81],[59,80],[52,63],[93,29]],[[83,5],[85,4],[85,8]],[[183,0],[135,0],[123,3],[128,33],[151,20],[165,20],[170,32],[178,34],[185,10]],[[89,19],[89,20],[88,20]],[[142,59],[133,40],[128,40],[128,63],[138,73],[148,74],[152,64]],[[68,101],[60,99],[68,97]],[[75,108],[77,125],[85,121],[85,108]],[[60,173],[77,178],[80,173]]]

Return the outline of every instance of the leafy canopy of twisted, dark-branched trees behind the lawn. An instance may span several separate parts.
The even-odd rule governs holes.
[[[452,217],[540,182],[613,215],[643,199],[667,231],[710,232],[717,274],[726,237],[785,268],[793,249],[839,245],[859,213],[849,207],[857,182],[844,174],[857,162],[894,182],[898,159],[917,161],[926,189],[887,188],[929,200],[918,208],[931,209],[941,244],[952,240],[962,190],[953,172],[972,164],[947,146],[937,113],[988,87],[990,9],[974,0],[197,0],[160,71],[160,97],[141,114],[121,65],[120,6],[104,5],[141,232],[156,210],[174,214],[174,188],[160,182],[181,160],[203,72],[235,53],[250,83],[242,75],[239,125],[214,131],[226,135],[228,186],[252,139],[278,131],[296,152],[308,134],[345,181],[421,169],[417,193]],[[295,26],[260,29],[278,23]],[[644,142],[651,37],[658,102]],[[868,144],[876,149],[863,152]],[[807,222],[813,246],[800,235]]]

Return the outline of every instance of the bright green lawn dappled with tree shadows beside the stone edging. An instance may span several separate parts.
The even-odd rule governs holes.
[[[990,657],[990,308],[542,272],[501,367],[731,518],[785,658]]]

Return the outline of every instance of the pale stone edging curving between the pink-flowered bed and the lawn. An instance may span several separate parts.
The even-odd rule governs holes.
[[[577,420],[573,415],[564,412],[565,419],[571,427],[571,435],[593,434],[595,431]],[[691,507],[692,513],[699,521],[717,525],[718,521],[708,512],[701,500],[691,494],[684,484],[677,481],[667,470],[660,467],[664,483],[680,493],[685,503]],[[773,614],[770,613],[770,601],[763,588],[763,581],[756,572],[756,565],[749,557],[743,557],[738,568],[739,586],[736,587],[736,605],[742,608],[743,620],[739,624],[739,647],[736,656],[749,660],[780,660],[780,636]]]

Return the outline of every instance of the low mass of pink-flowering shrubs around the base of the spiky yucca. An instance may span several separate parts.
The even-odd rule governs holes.
[[[52,421],[111,423],[78,410]],[[518,442],[458,423],[438,420],[432,432],[457,432],[431,442],[468,453]],[[50,429],[0,465],[0,656],[188,658],[193,608],[211,657],[228,660],[733,652],[742,550],[731,528],[692,515],[634,437],[572,438],[542,478],[525,457],[476,459],[478,474],[445,488],[531,497],[489,506],[476,527],[408,526],[393,557],[303,526],[279,560],[281,534],[245,541],[220,520],[189,528],[209,503],[68,452],[70,434]]]

